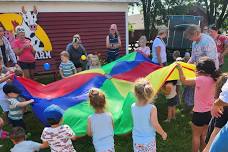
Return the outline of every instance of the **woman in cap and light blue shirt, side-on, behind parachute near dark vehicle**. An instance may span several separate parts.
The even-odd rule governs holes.
[[[166,44],[163,41],[167,37],[167,32],[168,28],[166,26],[160,26],[158,35],[152,45],[152,62],[160,66],[165,66],[167,62]]]

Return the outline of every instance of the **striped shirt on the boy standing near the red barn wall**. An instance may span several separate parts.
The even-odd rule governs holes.
[[[76,71],[73,62],[71,62],[70,60],[67,63],[61,62],[61,64],[59,65],[59,69],[63,72],[64,77],[69,77],[75,74],[74,71]]]

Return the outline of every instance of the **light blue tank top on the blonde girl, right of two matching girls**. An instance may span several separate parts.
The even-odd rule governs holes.
[[[150,114],[155,106],[146,104],[137,106],[135,103],[131,106],[133,116],[133,142],[137,144],[148,144],[155,140],[156,132],[151,124]]]

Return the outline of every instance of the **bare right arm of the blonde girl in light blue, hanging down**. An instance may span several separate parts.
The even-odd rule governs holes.
[[[151,114],[150,114],[150,121],[152,126],[155,128],[155,130],[162,136],[163,140],[166,140],[167,134],[162,129],[161,125],[158,122],[158,116],[157,116],[157,108],[154,107]]]

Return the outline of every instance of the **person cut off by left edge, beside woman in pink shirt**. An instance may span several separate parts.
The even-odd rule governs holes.
[[[0,56],[3,57],[4,65],[7,66],[8,58],[10,57],[11,61],[14,64],[17,64],[16,56],[11,48],[10,42],[4,36],[4,28],[0,25]]]

